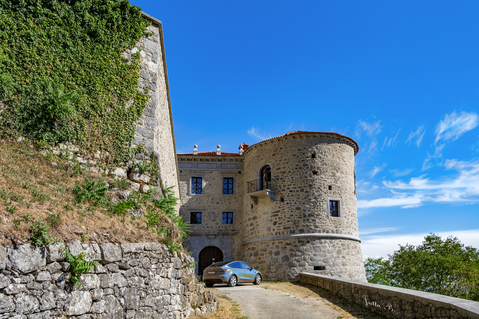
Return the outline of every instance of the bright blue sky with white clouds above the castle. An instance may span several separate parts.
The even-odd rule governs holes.
[[[479,2],[132,3],[163,22],[179,153],[339,132],[364,255],[479,248]]]

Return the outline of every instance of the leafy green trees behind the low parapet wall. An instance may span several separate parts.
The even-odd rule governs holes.
[[[456,237],[430,234],[388,257],[366,260],[369,282],[479,301],[479,252]]]

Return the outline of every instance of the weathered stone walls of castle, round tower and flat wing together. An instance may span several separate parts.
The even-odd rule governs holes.
[[[251,147],[244,144],[244,154],[178,154],[180,213],[189,220],[190,211],[201,210],[205,220],[192,226],[185,245],[195,260],[208,245],[220,248],[225,260],[232,252],[231,259],[261,270],[265,280],[297,281],[300,272],[308,271],[365,281],[354,176],[358,149],[337,133],[291,132]],[[224,162],[236,163],[235,171],[223,170]],[[210,168],[198,169],[205,165]],[[265,165],[271,167],[273,189],[249,189],[248,182],[258,180]],[[238,176],[235,196],[218,200],[225,196],[221,183],[228,174]],[[191,176],[203,176],[201,195],[190,194]],[[339,217],[330,216],[330,200],[339,203]],[[235,210],[234,225],[209,219],[227,209]],[[199,231],[205,232],[201,238]],[[208,238],[225,231],[235,231],[232,241],[224,237],[215,244]]]

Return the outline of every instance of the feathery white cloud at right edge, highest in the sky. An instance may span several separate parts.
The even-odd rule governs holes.
[[[453,111],[451,114],[446,114],[437,124],[434,143],[437,144],[439,141],[456,141],[462,134],[474,129],[478,125],[478,114],[465,111],[457,114],[456,111]]]

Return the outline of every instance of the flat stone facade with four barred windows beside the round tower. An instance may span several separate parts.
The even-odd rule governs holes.
[[[235,154],[236,155],[236,154]],[[233,259],[233,251],[240,249],[238,241],[233,236],[242,228],[243,222],[235,219],[233,224],[222,223],[222,211],[233,211],[235,216],[242,215],[243,187],[235,186],[233,194],[222,194],[223,177],[233,177],[235,185],[243,184],[243,162],[237,156],[200,156],[194,161],[179,165],[181,205],[180,214],[183,220],[190,220],[191,211],[202,211],[202,223],[192,224],[190,234],[184,247],[193,252],[192,257],[198,261],[198,254],[206,246],[216,246],[224,253],[224,260]],[[190,163],[189,163],[190,162]],[[199,165],[199,167],[198,167]],[[195,166],[195,167],[194,167]],[[223,166],[223,168],[222,168]],[[184,168],[186,167],[186,169]],[[194,168],[189,170],[188,167]],[[232,170],[231,167],[236,167]],[[201,176],[203,179],[202,194],[191,193],[191,177]],[[198,265],[196,266],[196,272]]]

